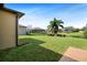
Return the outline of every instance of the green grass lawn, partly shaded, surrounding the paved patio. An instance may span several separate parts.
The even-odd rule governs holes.
[[[68,46],[87,50],[87,39],[76,36],[20,35],[19,43],[24,45],[0,51],[0,61],[56,62]]]

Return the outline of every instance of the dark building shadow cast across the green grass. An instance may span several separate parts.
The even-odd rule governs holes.
[[[40,44],[44,41],[35,39],[19,39],[18,47],[0,51],[0,61],[2,62],[58,62],[61,54],[42,47]]]

